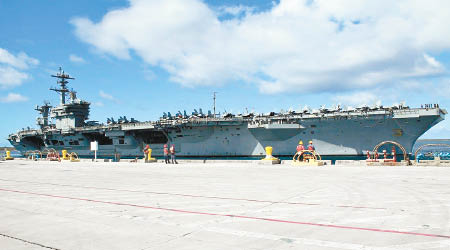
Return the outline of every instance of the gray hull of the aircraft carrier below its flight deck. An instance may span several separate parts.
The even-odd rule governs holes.
[[[415,141],[443,119],[439,110],[421,110],[417,115],[351,117],[299,120],[296,124],[250,126],[247,122],[231,124],[183,125],[167,131],[169,144],[175,144],[177,155],[186,157],[245,157],[265,155],[266,146],[274,155],[291,156],[300,140],[312,140],[321,155],[363,155],[382,141],[396,141],[411,153]],[[99,157],[142,157],[145,142],[130,131],[107,131],[112,145],[99,145]],[[51,139],[64,145],[36,147],[26,140],[11,141],[21,152],[54,148],[67,149],[82,157],[93,157],[89,138],[83,133],[52,134]],[[71,141],[79,145],[68,145]],[[150,143],[154,156],[162,156],[164,143]]]

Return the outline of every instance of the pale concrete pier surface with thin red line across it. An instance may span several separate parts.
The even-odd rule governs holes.
[[[0,249],[450,249],[450,167],[0,162]]]

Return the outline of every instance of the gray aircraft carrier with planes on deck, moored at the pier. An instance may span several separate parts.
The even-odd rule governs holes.
[[[162,156],[164,144],[174,144],[181,157],[261,156],[265,146],[272,146],[274,155],[292,156],[300,140],[313,141],[321,155],[363,155],[387,140],[411,153],[417,138],[447,114],[438,105],[409,108],[404,104],[236,115],[204,114],[200,109],[191,114],[164,113],[157,121],[120,117],[100,124],[88,120],[90,103],[67,88],[68,80],[74,78],[61,69],[52,76],[59,86],[50,90],[59,93],[60,104],[37,106],[39,128],[22,129],[8,137],[22,153],[66,149],[93,157],[90,142],[97,141],[98,157],[142,157],[145,145],[150,145],[154,156]]]

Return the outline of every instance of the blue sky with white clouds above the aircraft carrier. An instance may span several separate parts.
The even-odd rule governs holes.
[[[0,146],[58,104],[91,120],[202,108],[266,113],[437,103],[450,108],[450,1],[2,0]],[[450,120],[421,138],[450,138]]]

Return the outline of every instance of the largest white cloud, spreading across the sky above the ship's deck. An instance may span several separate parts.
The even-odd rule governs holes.
[[[266,93],[347,91],[442,74],[450,1],[281,0],[264,12],[200,0],[130,0],[76,35],[103,53],[130,50],[184,86],[232,81]],[[240,15],[220,20],[223,13]]]

